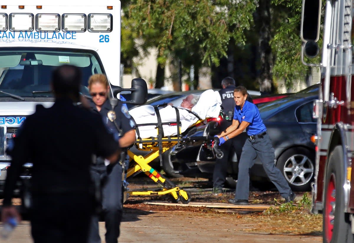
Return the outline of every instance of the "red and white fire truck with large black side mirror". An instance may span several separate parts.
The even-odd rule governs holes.
[[[323,7],[321,2],[303,0],[301,18],[302,62],[322,74],[313,114],[318,124],[312,212],[323,215],[323,242],[348,243],[354,242],[354,9],[350,0],[327,0]],[[321,62],[311,63],[320,50],[321,27]]]

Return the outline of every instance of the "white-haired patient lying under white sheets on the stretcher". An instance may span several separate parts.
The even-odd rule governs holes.
[[[177,114],[181,124],[181,132],[183,133],[188,127],[192,126],[198,120],[205,120],[209,117],[218,117],[221,110],[221,97],[219,92],[208,89],[199,97],[190,94],[183,99],[181,106],[174,107],[170,104],[158,108],[156,114],[155,108],[151,105],[142,105],[129,111],[130,115],[135,119],[138,125],[137,137],[151,138],[157,137],[158,115],[161,123],[171,122],[170,125],[162,125],[164,137],[176,135],[178,132]],[[157,109],[157,108],[156,108]],[[153,124],[152,124],[153,123]],[[144,125],[149,124],[149,125]]]

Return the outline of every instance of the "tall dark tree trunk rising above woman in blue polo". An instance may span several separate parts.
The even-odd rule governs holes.
[[[258,76],[259,90],[270,93],[273,91],[273,58],[270,41],[270,0],[259,0],[257,22],[259,24],[259,55],[261,70]]]

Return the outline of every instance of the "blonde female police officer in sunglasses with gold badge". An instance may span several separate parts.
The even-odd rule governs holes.
[[[92,96],[91,110],[100,114],[108,129],[121,136],[120,147],[128,147],[134,143],[135,122],[129,115],[128,109],[120,101],[115,107],[109,102],[109,84],[103,74],[94,74],[89,79],[89,91]],[[114,117],[115,119],[112,119]],[[106,166],[103,158],[97,158],[96,164],[91,168],[95,180],[102,181],[102,210],[104,215],[106,233],[105,242],[116,243],[119,237],[119,227],[122,219],[122,173],[123,161]],[[98,231],[99,216],[94,215],[91,221],[89,243],[100,243]]]

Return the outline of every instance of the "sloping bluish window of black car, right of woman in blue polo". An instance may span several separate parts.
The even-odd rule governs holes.
[[[273,100],[271,102],[261,103],[258,105],[258,109],[262,120],[267,119],[274,113],[286,108],[287,106],[295,103],[298,100],[297,97],[288,96],[285,98]]]

